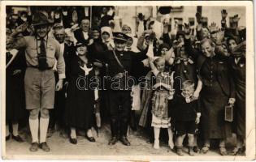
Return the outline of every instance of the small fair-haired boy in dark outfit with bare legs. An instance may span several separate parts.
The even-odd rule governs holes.
[[[194,83],[190,80],[182,83],[181,94],[176,94],[173,100],[169,103],[170,111],[168,111],[171,120],[175,122],[175,130],[177,134],[176,138],[176,153],[179,156],[183,156],[182,143],[186,134],[189,139],[189,156],[193,156],[194,147],[194,134],[197,128],[197,124],[200,122],[200,108],[197,100],[193,98]]]

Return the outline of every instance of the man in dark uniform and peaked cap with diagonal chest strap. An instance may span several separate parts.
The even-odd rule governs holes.
[[[136,82],[131,76],[142,74],[143,63],[147,58],[145,53],[125,51],[128,36],[122,32],[114,32],[115,49],[103,53],[95,53],[96,58],[106,62],[108,76],[107,82],[110,101],[111,134],[109,145],[114,145],[118,140],[126,146],[130,146],[127,139],[129,116],[132,109],[131,89]]]

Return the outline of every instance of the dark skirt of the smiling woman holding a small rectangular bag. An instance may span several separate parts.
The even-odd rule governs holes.
[[[228,104],[218,82],[204,86],[201,92],[202,134],[204,139],[226,139],[232,135],[231,122],[224,121],[224,109]]]

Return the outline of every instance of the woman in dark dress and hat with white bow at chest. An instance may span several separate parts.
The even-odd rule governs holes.
[[[76,54],[71,61],[70,78],[67,87],[67,103],[65,121],[71,128],[70,142],[77,143],[76,129],[86,130],[85,137],[95,142],[91,127],[93,126],[94,90],[90,87],[90,79],[95,76],[90,60],[87,58],[87,46],[76,44]]]

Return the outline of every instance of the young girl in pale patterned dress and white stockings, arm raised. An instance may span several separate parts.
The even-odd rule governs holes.
[[[154,66],[154,62],[156,66]],[[171,132],[171,118],[168,117],[168,100],[170,100],[174,94],[172,89],[173,85],[173,73],[171,75],[165,71],[165,59],[157,58],[154,62],[150,59],[150,67],[156,77],[156,83],[154,84],[154,96],[152,98],[152,123],[154,127],[154,148],[159,148],[159,133],[160,128],[167,128],[169,134],[169,146],[173,149],[174,144],[172,141]]]

